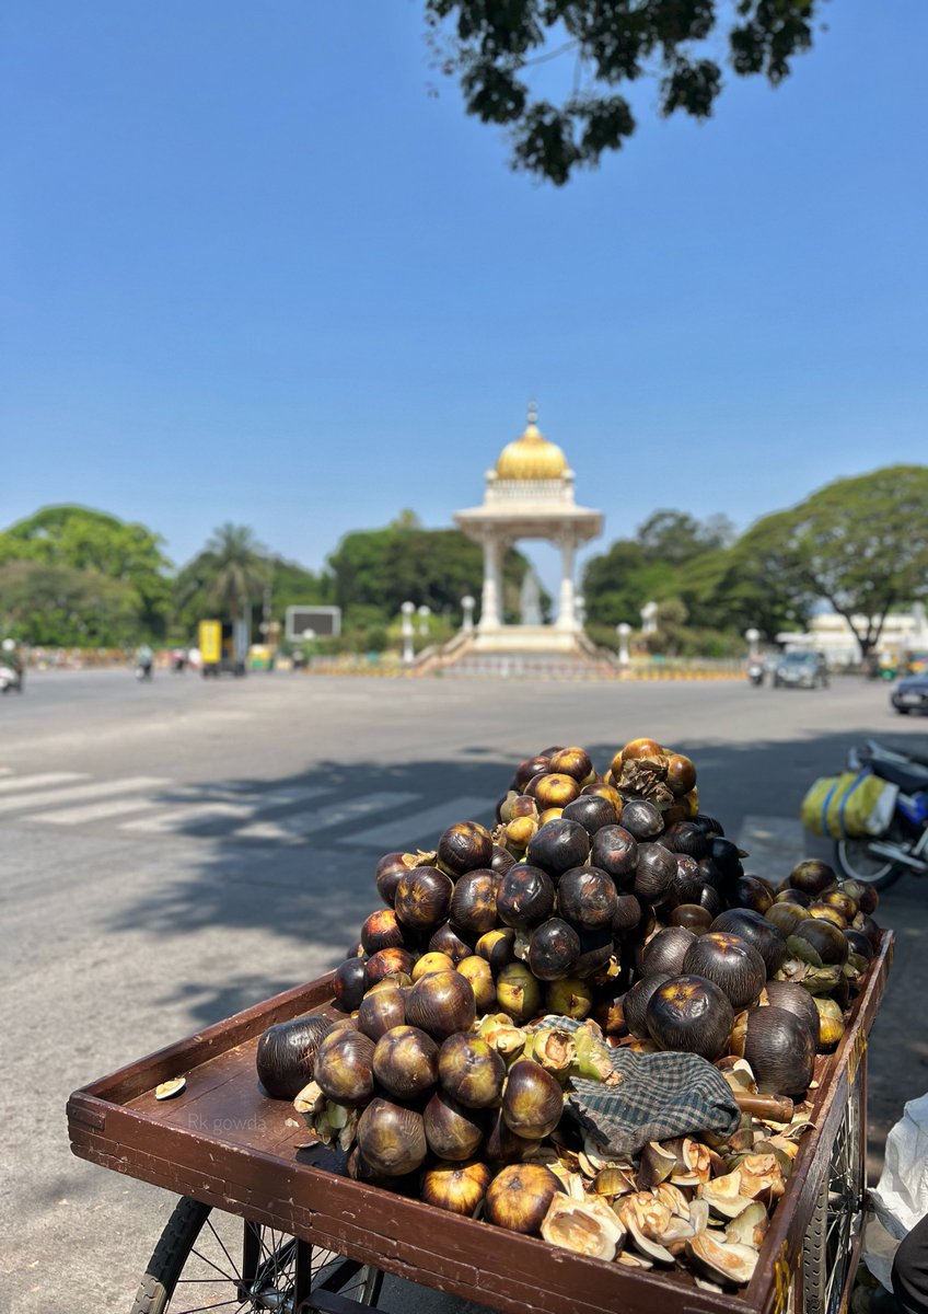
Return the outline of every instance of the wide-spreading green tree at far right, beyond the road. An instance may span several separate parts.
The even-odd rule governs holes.
[[[826,599],[866,657],[891,607],[928,598],[928,466],[893,465],[836,480],[738,541],[755,578],[798,608]]]

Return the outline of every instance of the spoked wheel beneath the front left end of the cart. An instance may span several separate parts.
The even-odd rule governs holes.
[[[131,1314],[326,1310],[327,1293],[377,1305],[383,1273],[196,1200],[180,1200],[155,1246]]]

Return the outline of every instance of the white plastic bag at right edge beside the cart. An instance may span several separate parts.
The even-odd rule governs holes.
[[[928,1095],[910,1100],[886,1137],[883,1171],[870,1192],[877,1222],[895,1244],[870,1229],[864,1235],[864,1263],[887,1290],[898,1243],[928,1214]]]

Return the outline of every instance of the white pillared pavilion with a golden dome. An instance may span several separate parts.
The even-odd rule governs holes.
[[[575,652],[583,646],[576,618],[576,549],[602,532],[602,515],[574,501],[574,470],[557,443],[538,428],[534,405],[525,432],[507,443],[486,474],[483,505],[457,511],[458,528],[483,544],[483,593],[474,648],[484,652]],[[558,616],[553,625],[507,625],[503,620],[503,557],[521,539],[560,549]]]

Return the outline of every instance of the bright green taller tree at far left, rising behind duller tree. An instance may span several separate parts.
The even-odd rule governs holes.
[[[0,533],[0,562],[38,561],[123,583],[134,600],[137,628],[159,636],[171,598],[171,562],[163,543],[143,524],[104,511],[47,506]]]

